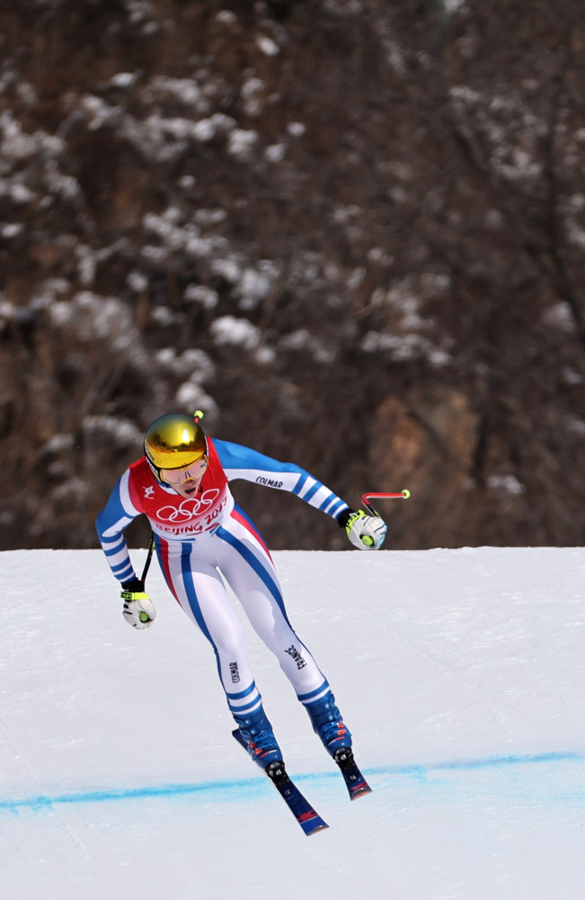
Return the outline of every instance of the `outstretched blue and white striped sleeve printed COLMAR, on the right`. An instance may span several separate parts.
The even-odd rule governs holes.
[[[213,445],[230,482],[242,478],[246,482],[289,491],[332,518],[337,518],[344,509],[349,509],[348,504],[337,494],[294,463],[279,463],[250,447],[232,444],[230,441],[214,440]]]

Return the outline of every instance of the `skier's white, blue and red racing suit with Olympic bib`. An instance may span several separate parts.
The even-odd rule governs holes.
[[[290,491],[332,518],[349,509],[297,465],[208,438],[208,468],[199,491],[188,499],[159,482],[144,456],[131,464],[96,520],[100,543],[118,581],[136,578],[123,531],[134,518],[146,515],[169,589],[216,653],[232,714],[253,713],[261,707],[261,695],[225,581],[308,708],[327,694],[329,683],[288,622],[268,548],[235,504],[228,482],[238,478]]]

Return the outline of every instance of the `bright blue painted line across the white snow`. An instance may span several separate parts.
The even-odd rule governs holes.
[[[426,764],[412,764],[402,766],[378,766],[364,770],[366,778],[376,775],[400,776],[413,775],[424,777],[439,771],[470,771],[478,769],[501,769],[511,766],[527,766],[545,763],[585,762],[585,754],[577,752],[551,752],[535,753],[526,756],[492,756],[478,760],[452,760]],[[260,775],[260,771],[258,773]],[[295,781],[315,781],[320,779],[338,778],[335,771],[319,772],[314,774],[295,774]],[[77,791],[67,794],[38,794],[33,797],[21,797],[20,799],[0,799],[0,812],[16,812],[23,808],[29,808],[40,812],[57,804],[84,804],[84,803],[112,803],[120,800],[145,800],[160,799],[161,797],[189,797],[199,795],[202,799],[219,798],[233,800],[236,795],[245,798],[257,796],[257,792],[263,791],[268,782],[264,779],[236,779],[220,781],[202,781],[193,784],[170,784],[145,788],[118,788],[96,789]]]

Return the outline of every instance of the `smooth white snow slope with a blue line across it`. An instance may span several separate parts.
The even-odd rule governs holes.
[[[374,793],[350,804],[248,628],[288,770],[331,826],[306,838],[230,737],[155,564],[138,633],[99,551],[3,553],[2,896],[581,900],[585,551],[275,561]]]

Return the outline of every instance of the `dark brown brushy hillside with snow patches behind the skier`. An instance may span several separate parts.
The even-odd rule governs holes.
[[[388,546],[583,543],[581,4],[0,0],[0,58],[0,547],[94,546],[198,407],[410,488]]]

